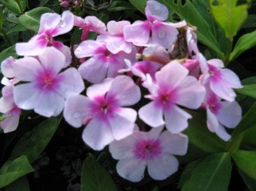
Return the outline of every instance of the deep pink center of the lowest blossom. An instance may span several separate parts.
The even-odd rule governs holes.
[[[136,142],[134,156],[140,160],[151,160],[161,154],[162,148],[159,140],[142,140]]]

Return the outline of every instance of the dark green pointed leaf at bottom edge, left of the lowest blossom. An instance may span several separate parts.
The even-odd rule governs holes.
[[[92,154],[84,160],[81,174],[81,191],[117,191],[108,172],[102,168]]]

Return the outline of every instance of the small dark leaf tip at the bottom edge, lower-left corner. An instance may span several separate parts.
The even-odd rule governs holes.
[[[26,176],[21,177],[5,187],[5,191],[30,191],[30,185],[28,184],[28,178]]]

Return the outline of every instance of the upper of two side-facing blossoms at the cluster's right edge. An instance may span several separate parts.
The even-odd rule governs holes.
[[[232,70],[222,68],[224,65],[220,59],[210,59],[207,62],[208,70],[201,75],[201,83],[209,84],[214,94],[233,102],[236,98],[233,88],[243,88],[239,77]]]

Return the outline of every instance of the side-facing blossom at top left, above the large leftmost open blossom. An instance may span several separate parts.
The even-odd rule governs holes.
[[[73,14],[64,11],[62,15],[56,13],[45,13],[40,19],[39,32],[27,43],[16,43],[16,52],[20,56],[37,56],[43,53],[46,46],[54,46],[65,56],[63,67],[70,64],[72,56],[70,49],[61,41],[55,41],[54,37],[65,34],[73,28]]]

